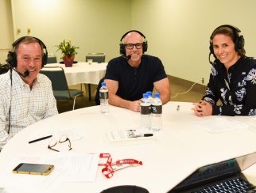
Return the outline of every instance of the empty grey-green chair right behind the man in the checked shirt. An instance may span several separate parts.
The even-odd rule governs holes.
[[[56,100],[74,100],[74,110],[76,96],[83,96],[83,91],[79,89],[68,89],[68,82],[63,68],[60,66],[45,66],[40,73],[45,74],[52,81],[53,95]],[[85,107],[84,99],[83,105]]]

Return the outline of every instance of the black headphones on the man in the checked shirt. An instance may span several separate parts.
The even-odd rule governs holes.
[[[22,40],[25,40],[26,37],[33,37],[33,36],[23,36],[19,39],[17,39],[13,44],[13,51],[9,51],[8,52],[8,55],[7,55],[7,59],[6,59],[6,62],[11,66],[11,67],[17,67],[17,55],[15,53],[15,48],[17,47],[17,45],[19,45],[21,43]],[[41,67],[44,67],[45,64],[47,63],[47,59],[48,59],[48,52],[47,52],[47,47],[45,46],[45,44],[39,40],[38,38],[36,37],[33,37],[34,39],[37,40],[37,42],[40,44],[40,46],[45,49],[45,52],[43,54],[43,58],[42,58],[42,66]]]

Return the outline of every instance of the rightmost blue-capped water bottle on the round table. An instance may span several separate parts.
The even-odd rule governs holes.
[[[162,102],[159,98],[160,94],[155,93],[153,98],[153,103],[151,105],[152,110],[152,118],[151,118],[151,128],[150,131],[161,131],[162,123],[161,123],[161,114],[162,114]]]

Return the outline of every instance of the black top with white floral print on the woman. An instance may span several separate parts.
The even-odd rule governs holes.
[[[256,115],[256,58],[242,56],[228,71],[216,59],[202,100],[212,105],[212,115]]]

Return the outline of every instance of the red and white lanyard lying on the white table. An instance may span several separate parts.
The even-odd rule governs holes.
[[[99,158],[107,158],[107,163],[106,164],[99,164],[99,166],[105,166],[102,169],[103,175],[106,176],[107,178],[111,178],[114,174],[119,169],[130,167],[130,166],[137,166],[137,165],[142,165],[142,161],[137,161],[134,159],[124,159],[124,160],[118,160],[112,163],[112,157],[110,153],[100,153]],[[122,168],[112,168],[113,165],[126,165],[123,166]]]

